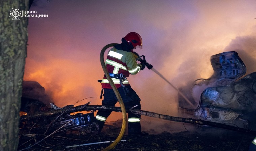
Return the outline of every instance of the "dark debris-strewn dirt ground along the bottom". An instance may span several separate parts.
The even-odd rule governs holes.
[[[96,135],[56,133],[47,135],[21,135],[18,150],[29,151],[98,151],[110,143],[83,145],[87,143],[114,141],[120,132],[118,127],[107,127]],[[29,137],[28,137],[29,136]],[[47,138],[46,138],[47,137]],[[145,136],[124,135],[122,142],[113,149],[117,151],[247,151],[255,134],[198,127],[195,131],[178,133],[162,132]],[[40,142],[39,142],[40,141]],[[38,144],[36,144],[38,143]],[[36,144],[36,145],[34,145]],[[70,147],[74,145],[83,145]]]

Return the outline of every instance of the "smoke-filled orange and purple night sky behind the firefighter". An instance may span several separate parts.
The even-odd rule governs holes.
[[[255,8],[255,0],[34,0],[30,10],[48,17],[29,18],[24,80],[39,82],[59,107],[88,97],[96,98],[77,105],[101,105],[100,51],[129,32],[143,40],[135,52],[177,88],[209,78],[210,56],[225,51],[237,51],[249,74],[256,71]],[[177,91],[153,71],[128,80],[142,110],[177,115]]]

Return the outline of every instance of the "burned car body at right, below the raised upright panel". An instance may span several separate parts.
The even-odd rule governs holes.
[[[256,130],[255,113],[256,72],[229,85],[206,88],[195,117]]]

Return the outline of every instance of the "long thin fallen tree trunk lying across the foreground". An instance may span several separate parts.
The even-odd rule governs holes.
[[[103,106],[103,105],[88,105],[88,104],[90,104],[90,102],[85,104],[85,105],[80,105],[80,106],[67,108],[67,109],[59,109],[59,110],[46,111],[46,112],[37,112],[33,115],[24,115],[24,116],[21,116],[20,120],[21,121],[26,121],[26,120],[32,120],[32,119],[40,118],[40,117],[60,115],[62,113],[68,113],[69,114],[69,113],[73,113],[73,112],[91,111],[91,110],[121,112],[120,107]],[[255,131],[250,130],[250,129],[233,127],[233,126],[230,126],[230,125],[211,122],[211,121],[196,120],[196,119],[192,119],[192,118],[174,117],[174,116],[168,116],[168,115],[163,115],[163,114],[158,114],[158,113],[143,111],[143,110],[137,110],[137,109],[126,109],[126,112],[127,113],[145,115],[145,116],[149,116],[149,117],[155,117],[155,118],[164,119],[164,120],[175,121],[175,122],[183,122],[183,123],[198,124],[198,125],[208,125],[208,126],[212,126],[212,127],[218,127],[218,128],[228,129],[228,130],[237,131],[237,132],[255,133],[256,134]]]

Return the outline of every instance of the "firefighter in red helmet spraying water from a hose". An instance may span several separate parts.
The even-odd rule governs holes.
[[[122,38],[122,43],[114,45],[108,51],[106,59],[106,68],[113,80],[118,92],[124,102],[126,108],[136,106],[134,109],[141,109],[140,98],[136,92],[131,88],[126,77],[135,75],[145,68],[145,64],[137,64],[133,55],[133,50],[138,48],[142,49],[142,38],[138,33],[130,32]],[[106,76],[102,79],[101,86],[104,89],[104,99],[102,105],[115,106],[118,99],[111,88]],[[99,123],[99,132],[104,126],[107,117],[112,111],[98,111],[96,115],[97,122]],[[140,115],[128,114],[128,134],[141,135]]]

